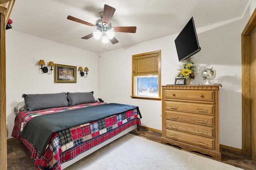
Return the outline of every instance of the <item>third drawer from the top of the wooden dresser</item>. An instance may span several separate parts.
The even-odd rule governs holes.
[[[214,127],[214,116],[193,113],[182,113],[178,111],[164,111],[164,119],[194,123],[196,125],[207,125]]]

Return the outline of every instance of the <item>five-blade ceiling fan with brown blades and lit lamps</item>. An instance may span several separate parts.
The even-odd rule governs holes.
[[[100,38],[102,35],[102,43],[107,43],[109,40],[112,44],[115,44],[119,41],[114,37],[114,32],[136,33],[136,27],[112,27],[110,20],[112,19],[115,11],[115,8],[105,4],[104,10],[99,12],[101,19],[97,20],[95,25],[72,16],[68,16],[67,19],[98,29],[98,31],[82,37],[82,39],[89,39],[91,37]]]

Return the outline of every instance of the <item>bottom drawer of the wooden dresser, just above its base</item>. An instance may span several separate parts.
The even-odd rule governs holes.
[[[169,138],[169,139],[190,143],[198,147],[214,149],[214,139],[211,139],[211,138],[191,135],[188,133],[183,133],[178,131],[172,131],[169,129],[165,129],[165,134],[166,134],[166,138]]]

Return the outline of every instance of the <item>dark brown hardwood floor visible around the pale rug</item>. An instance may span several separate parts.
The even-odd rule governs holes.
[[[137,135],[146,138],[151,141],[161,143],[160,132],[151,131],[148,129],[141,129],[139,132],[137,130],[130,132],[133,135]],[[164,145],[164,144],[163,144]],[[170,146],[174,147],[174,146]],[[180,149],[179,147],[175,147]],[[28,150],[25,145],[20,140],[13,140],[7,142],[7,169],[8,170],[36,170],[34,166],[34,160],[30,158],[30,150]],[[199,153],[196,153],[199,154]],[[256,163],[252,160],[250,156],[245,156],[240,152],[235,152],[228,149],[221,149],[222,160],[226,164],[230,164],[244,170],[256,170]],[[207,158],[211,158],[206,155],[199,154]]]

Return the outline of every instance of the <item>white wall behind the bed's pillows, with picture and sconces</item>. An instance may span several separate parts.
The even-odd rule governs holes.
[[[11,137],[14,107],[24,99],[22,94],[90,92],[98,98],[99,55],[12,29],[6,30],[6,117]],[[42,74],[40,59],[56,64],[88,67],[87,78],[77,73],[77,83],[54,83],[54,72]]]

